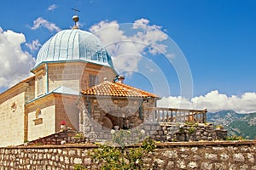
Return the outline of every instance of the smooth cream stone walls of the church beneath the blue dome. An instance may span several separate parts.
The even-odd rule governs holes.
[[[18,145],[60,130],[63,120],[79,130],[79,91],[103,81],[113,80],[115,72],[108,66],[86,62],[62,62],[39,65],[33,77],[0,94],[0,146]],[[94,81],[90,81],[93,75]],[[77,94],[55,92],[65,87]],[[70,90],[69,90],[70,91]]]

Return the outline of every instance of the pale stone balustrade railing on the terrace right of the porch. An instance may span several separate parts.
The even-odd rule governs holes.
[[[146,122],[207,122],[207,109],[186,110],[175,108],[145,108]]]

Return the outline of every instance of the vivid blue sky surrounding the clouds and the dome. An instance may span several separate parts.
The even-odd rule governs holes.
[[[193,97],[208,99],[209,94],[221,99],[219,95],[223,94],[227,102],[231,102],[233,96],[241,103],[249,93],[253,97],[247,101],[254,102],[256,99],[256,2],[253,0],[10,0],[0,7],[0,27],[2,33],[8,30],[21,33],[24,37],[20,41],[20,53],[30,54],[32,57],[28,59],[36,58],[40,44],[55,35],[58,29],[73,26],[71,18],[74,11],[71,8],[81,11],[78,13],[79,27],[85,31],[91,31],[93,26],[99,26],[102,21],[105,24],[116,22],[121,25],[144,19],[148,21],[147,26],[158,26],[160,31],[172,38],[188,61],[193,79]],[[52,30],[45,25],[36,27],[35,20],[38,19],[52,24],[50,26],[54,25]],[[33,48],[29,46],[32,42]],[[154,57],[152,59],[155,61]],[[160,96],[166,96],[166,99],[169,95],[179,96],[177,72],[172,65],[165,65],[164,59],[158,58],[158,61],[170,88],[170,93],[161,91]],[[19,70],[4,73],[5,76],[2,73],[2,77],[7,79],[7,76],[16,72]],[[138,75],[127,77],[127,83],[152,91],[154,85],[148,86],[150,80],[142,83],[140,79],[146,82],[147,79]],[[19,80],[20,77],[15,79]],[[9,82],[8,85],[14,83]],[[8,85],[0,83],[0,89],[3,91]],[[251,108],[249,111],[256,111],[253,103],[242,106],[248,105]],[[239,108],[236,111],[243,110]]]

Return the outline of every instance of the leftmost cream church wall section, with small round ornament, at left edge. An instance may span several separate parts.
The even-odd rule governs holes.
[[[33,78],[32,78],[33,79]],[[0,146],[22,144],[25,137],[25,102],[33,95],[30,80],[20,82],[0,94]],[[8,129],[8,130],[6,130]]]

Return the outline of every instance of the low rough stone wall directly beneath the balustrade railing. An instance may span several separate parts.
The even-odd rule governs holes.
[[[148,123],[142,127],[146,135],[157,141],[212,141],[223,140],[226,130],[215,130],[211,123]]]

